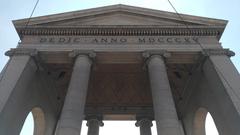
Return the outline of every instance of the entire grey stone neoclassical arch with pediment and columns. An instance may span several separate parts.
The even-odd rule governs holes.
[[[208,112],[220,135],[240,134],[225,20],[113,5],[13,23],[21,42],[0,75],[1,135],[18,135],[29,112],[34,135],[79,135],[83,120],[88,135],[105,120],[205,135]]]

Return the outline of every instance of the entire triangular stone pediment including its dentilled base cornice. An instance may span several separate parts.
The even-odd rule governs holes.
[[[24,35],[188,35],[217,36],[227,21],[159,11],[127,5],[113,5],[13,21]],[[29,21],[29,23],[28,23]],[[26,24],[28,24],[26,29]]]

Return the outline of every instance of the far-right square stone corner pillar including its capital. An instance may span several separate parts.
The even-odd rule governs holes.
[[[228,49],[206,49],[204,55],[207,59],[203,70],[210,85],[225,89],[240,114],[240,75],[230,60],[234,52]]]

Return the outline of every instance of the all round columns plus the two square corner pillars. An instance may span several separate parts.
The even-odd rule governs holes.
[[[27,89],[30,80],[38,69],[38,65],[34,59],[36,54],[36,50],[27,49],[16,49],[7,53],[7,55],[11,56],[11,60],[5,69],[6,71],[1,75],[2,78],[0,80],[1,133],[15,135],[21,127],[19,125],[21,125],[23,120],[16,121],[11,117],[16,114],[13,113],[11,115],[7,112],[15,110],[11,106],[17,105],[18,101],[23,100],[22,94],[25,94],[23,90]],[[80,134],[82,121],[85,118],[84,107],[88,90],[88,81],[95,55],[96,54],[92,51],[73,51],[70,53],[70,56],[74,58],[74,66],[69,87],[60,118],[58,123],[56,123],[56,131],[49,131],[49,135],[53,134],[53,132],[55,132],[56,135]],[[237,70],[231,64],[227,57],[229,54],[227,54],[226,51],[222,50],[220,53],[209,52],[207,55],[209,57],[207,62],[210,62],[214,66],[211,66],[211,64],[205,64],[203,70],[206,73],[210,73],[211,69],[217,71],[214,75],[218,76],[216,78],[220,80],[216,82],[211,79],[212,76],[206,75],[206,77],[209,79],[209,83],[213,86],[217,86],[217,83],[219,82],[224,84],[219,87],[226,90],[225,92],[229,97],[226,100],[230,99],[228,101],[231,101],[231,104],[233,104],[232,113],[237,116],[237,114],[239,114],[240,102],[238,99],[240,95],[238,91],[239,84],[237,83],[240,78],[239,75],[237,75]],[[183,132],[182,124],[179,122],[166,71],[165,58],[168,56],[169,53],[166,51],[147,51],[143,53],[149,74],[154,119],[156,120],[157,132],[159,135],[184,135],[186,132]],[[222,66],[221,63],[227,66],[227,68]],[[214,69],[216,68],[215,66],[218,66],[219,68]],[[228,71],[228,69],[231,69],[231,71]],[[223,78],[223,75],[226,77]],[[8,82],[9,80],[11,81]],[[232,87],[229,88],[229,85]],[[16,103],[12,98],[16,100]],[[236,118],[235,123],[239,123],[239,117]],[[9,123],[13,121],[19,121],[19,125],[16,126],[16,131],[14,132],[10,131],[8,128],[8,126],[10,126]],[[147,117],[142,117],[137,120],[136,126],[139,127],[141,135],[151,135],[151,121],[152,120]],[[52,125],[53,124],[54,123],[52,123]],[[87,126],[88,135],[98,135],[99,127],[103,126],[103,122],[98,117],[91,117],[87,119]],[[238,128],[229,129],[228,132],[230,132],[230,130],[233,134],[238,133]]]

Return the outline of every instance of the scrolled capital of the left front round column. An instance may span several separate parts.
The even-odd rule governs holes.
[[[85,55],[88,56],[91,59],[94,59],[96,57],[96,53],[93,50],[72,50],[69,53],[69,57],[77,57],[79,55]]]

